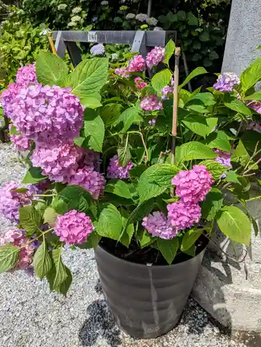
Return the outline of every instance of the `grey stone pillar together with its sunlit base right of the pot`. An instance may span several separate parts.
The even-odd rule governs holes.
[[[255,58],[261,56],[261,50],[257,50],[260,45],[261,0],[232,0],[222,71],[240,76]],[[260,191],[252,193],[261,195]],[[261,230],[261,200],[251,201],[248,205]],[[231,330],[261,332],[260,233],[255,237],[253,232],[248,248],[233,245],[221,235],[214,242],[231,257],[226,257],[219,248],[209,247],[192,297]]]

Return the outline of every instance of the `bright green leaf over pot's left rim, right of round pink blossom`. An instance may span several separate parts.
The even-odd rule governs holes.
[[[111,203],[101,211],[96,232],[103,237],[119,240],[121,236],[121,214]]]

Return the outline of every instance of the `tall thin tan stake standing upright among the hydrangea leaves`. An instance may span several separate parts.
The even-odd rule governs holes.
[[[178,77],[179,77],[179,58],[180,47],[175,50],[175,70],[174,70],[174,92],[173,92],[173,117],[172,117],[172,145],[171,145],[171,164],[175,162],[175,144],[177,135],[178,120]],[[174,187],[171,187],[171,196],[174,197]]]

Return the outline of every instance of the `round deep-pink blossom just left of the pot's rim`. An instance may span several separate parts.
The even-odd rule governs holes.
[[[66,244],[84,244],[93,230],[94,226],[90,217],[85,213],[72,210],[63,216],[58,214],[53,232]]]

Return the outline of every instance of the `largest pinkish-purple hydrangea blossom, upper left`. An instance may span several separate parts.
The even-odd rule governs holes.
[[[83,106],[69,88],[30,85],[12,100],[8,117],[17,131],[36,144],[78,137],[83,126]]]

